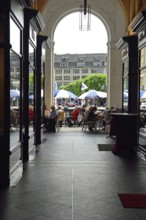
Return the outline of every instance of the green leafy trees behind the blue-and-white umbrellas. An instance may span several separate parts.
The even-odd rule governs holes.
[[[88,87],[85,91],[95,89],[97,91],[104,91],[107,84],[107,75],[103,73],[95,73],[86,76],[83,79],[76,80],[65,86],[61,86],[60,89],[65,89],[73,92],[77,96],[82,94],[81,85],[82,82]]]

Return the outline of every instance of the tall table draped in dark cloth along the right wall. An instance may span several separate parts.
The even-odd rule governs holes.
[[[110,136],[116,136],[112,149],[115,155],[133,155],[137,147],[138,115],[132,113],[111,113]]]

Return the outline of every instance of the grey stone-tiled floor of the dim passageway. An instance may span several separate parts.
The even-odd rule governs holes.
[[[62,128],[43,143],[16,186],[0,193],[0,220],[145,220],[118,193],[146,193],[146,162],[99,151],[105,134]]]

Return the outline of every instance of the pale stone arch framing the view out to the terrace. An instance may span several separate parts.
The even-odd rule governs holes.
[[[51,5],[50,5],[51,6]],[[110,5],[111,6],[111,5]],[[114,6],[113,6],[114,7]],[[48,7],[49,9],[49,4]],[[94,8],[94,10],[93,10]],[[116,105],[121,107],[121,94],[122,94],[122,85],[121,85],[121,53],[116,48],[116,42],[119,40],[121,35],[125,34],[125,17],[120,5],[117,5],[116,14],[112,7],[105,6],[105,10],[101,10],[98,7],[98,4],[92,7],[92,15],[96,16],[101,20],[105,29],[107,31],[108,42],[107,42],[107,75],[108,75],[108,97],[107,105],[112,106]],[[49,9],[52,13],[51,9]],[[54,8],[52,8],[54,10]],[[46,18],[46,30],[48,36],[50,36],[51,41],[54,43],[54,34],[57,25],[59,22],[65,18],[65,16],[78,12],[79,8],[77,3],[74,5],[66,5],[62,10],[55,8],[55,13],[53,16],[48,16],[47,10],[44,12],[44,17]],[[115,31],[116,30],[116,31]],[[60,36],[61,37],[61,36]],[[45,92],[46,102],[50,101],[53,103],[53,86],[54,86],[54,76],[53,76],[53,63],[54,63],[54,44],[52,44],[51,50],[47,51],[46,59],[49,61],[46,63],[46,88],[49,87],[49,94]],[[51,85],[51,86],[50,86]],[[118,91],[118,92],[117,92]],[[49,104],[48,104],[49,105]]]

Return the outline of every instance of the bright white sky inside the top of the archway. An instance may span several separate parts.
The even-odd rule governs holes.
[[[79,13],[63,18],[54,34],[54,53],[106,53],[107,32],[100,19],[91,15],[91,31],[79,31]]]

